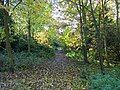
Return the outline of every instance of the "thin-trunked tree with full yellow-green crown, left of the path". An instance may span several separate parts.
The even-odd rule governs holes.
[[[34,38],[38,32],[44,30],[44,26],[51,25],[50,13],[51,6],[45,0],[24,0],[15,10],[13,18],[16,20],[16,27],[19,31],[19,33],[16,31],[16,33],[21,34],[21,36],[23,34],[27,36],[28,53],[30,53],[33,44],[32,38]]]

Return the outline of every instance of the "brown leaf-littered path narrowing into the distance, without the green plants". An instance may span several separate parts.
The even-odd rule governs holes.
[[[83,67],[82,67],[83,68]],[[61,51],[55,59],[45,61],[31,70],[0,74],[0,90],[87,90],[86,78],[80,79],[81,69]]]

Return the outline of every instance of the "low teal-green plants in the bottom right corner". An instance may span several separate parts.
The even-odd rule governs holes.
[[[117,71],[115,75],[118,75]],[[115,75],[95,74],[91,76],[90,78],[91,90],[119,90],[120,89],[120,77],[116,77]]]

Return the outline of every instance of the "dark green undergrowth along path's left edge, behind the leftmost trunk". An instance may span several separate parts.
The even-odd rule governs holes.
[[[25,51],[14,52],[15,70],[26,70],[33,68],[34,66],[39,65],[53,57],[54,50],[43,45],[36,46],[30,54]],[[0,59],[2,59],[4,63],[1,71],[7,71],[9,68],[7,54],[5,52],[1,53]]]

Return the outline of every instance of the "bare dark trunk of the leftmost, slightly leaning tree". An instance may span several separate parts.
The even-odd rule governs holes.
[[[0,0],[1,5],[8,6],[9,7],[9,0],[6,0],[6,5],[4,5],[4,0]],[[10,39],[9,39],[9,12],[6,9],[1,9],[3,12],[3,23],[4,23],[4,32],[6,37],[6,50],[8,53],[8,59],[9,59],[9,71],[11,73],[14,73],[14,58],[12,54],[12,48],[10,45]]]

